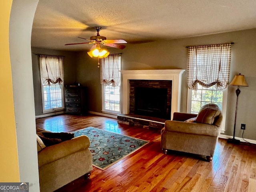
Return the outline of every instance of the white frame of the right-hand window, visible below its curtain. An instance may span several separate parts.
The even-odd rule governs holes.
[[[192,91],[188,88],[188,99],[187,99],[187,113],[191,113],[191,105],[192,105]],[[214,90],[213,90],[214,91]],[[222,96],[222,124],[221,124],[221,133],[226,131],[226,111],[227,111],[227,100],[228,100],[228,88],[225,90],[218,90],[223,92]]]

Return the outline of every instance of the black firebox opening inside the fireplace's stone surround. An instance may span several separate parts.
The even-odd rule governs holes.
[[[167,88],[135,87],[134,114],[168,119]]]

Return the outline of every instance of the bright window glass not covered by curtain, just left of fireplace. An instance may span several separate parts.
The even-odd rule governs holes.
[[[119,78],[121,76],[121,56],[118,56]],[[102,111],[120,113],[120,82],[117,86],[102,85]]]

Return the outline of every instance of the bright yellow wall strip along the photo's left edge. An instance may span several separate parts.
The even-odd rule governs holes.
[[[8,41],[11,6],[12,0],[6,0],[0,7],[0,182],[20,181]]]

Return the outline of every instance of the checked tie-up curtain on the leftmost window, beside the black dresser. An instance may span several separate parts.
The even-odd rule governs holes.
[[[40,55],[39,58],[43,84],[61,84],[64,79],[63,57]]]

